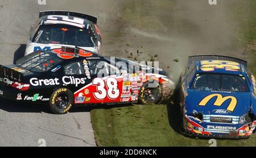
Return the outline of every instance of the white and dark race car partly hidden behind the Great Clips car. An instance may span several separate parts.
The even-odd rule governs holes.
[[[101,31],[97,18],[71,11],[41,11],[30,29],[25,56],[61,46],[101,52]]]

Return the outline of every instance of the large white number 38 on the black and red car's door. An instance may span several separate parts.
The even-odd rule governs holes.
[[[107,90],[105,89],[105,82],[102,78],[94,78],[92,85],[97,88],[97,92],[93,92],[94,97],[97,99],[105,99],[107,95],[109,99],[117,99],[119,96],[118,82],[114,77],[106,79]]]

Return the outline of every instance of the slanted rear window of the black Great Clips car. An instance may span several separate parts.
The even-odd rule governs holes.
[[[48,52],[31,53],[16,61],[16,65],[31,72],[46,72],[61,61],[59,57],[51,55]]]

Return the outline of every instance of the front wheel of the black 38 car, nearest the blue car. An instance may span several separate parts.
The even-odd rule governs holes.
[[[162,93],[162,85],[159,84],[158,81],[148,81],[143,84],[141,89],[139,90],[138,102],[141,104],[156,104],[162,101],[163,93]],[[154,84],[153,88],[150,88],[150,84]],[[152,97],[148,97],[148,90],[150,90]]]

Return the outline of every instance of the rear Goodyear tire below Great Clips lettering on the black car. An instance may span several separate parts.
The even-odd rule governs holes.
[[[73,93],[67,88],[55,90],[50,98],[49,110],[54,114],[66,114],[74,102]]]

